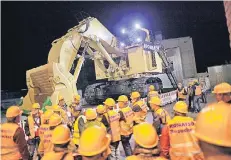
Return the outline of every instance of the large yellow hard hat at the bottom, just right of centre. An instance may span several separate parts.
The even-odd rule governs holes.
[[[149,123],[140,123],[133,128],[135,142],[144,148],[153,148],[158,144],[155,128]]]

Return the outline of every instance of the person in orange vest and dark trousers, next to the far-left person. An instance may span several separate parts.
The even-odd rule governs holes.
[[[29,137],[27,143],[29,144],[30,156],[33,157],[35,149],[38,148],[40,138],[39,138],[39,128],[41,126],[41,116],[42,111],[40,111],[39,103],[34,103],[32,105],[32,111],[27,118],[25,124],[25,133]]]

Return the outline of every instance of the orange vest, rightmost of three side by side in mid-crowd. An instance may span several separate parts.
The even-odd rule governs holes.
[[[143,100],[140,100],[142,101],[142,105],[140,106],[141,108],[141,111],[139,112],[134,112],[134,121],[136,123],[142,123],[142,122],[145,122],[145,119],[146,119],[146,116],[147,116],[147,113],[148,113],[148,110],[147,110],[147,105],[145,104],[145,102]],[[133,104],[133,106],[136,105],[136,103]]]

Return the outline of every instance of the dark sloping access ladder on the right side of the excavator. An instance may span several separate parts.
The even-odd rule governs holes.
[[[165,56],[166,51],[162,45],[160,45],[160,48],[157,51],[157,53],[163,61],[164,72],[167,74],[171,85],[174,89],[177,89],[177,80],[173,73],[172,65],[169,63],[168,58]]]

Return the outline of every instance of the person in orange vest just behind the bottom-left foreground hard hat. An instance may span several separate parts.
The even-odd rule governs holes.
[[[44,154],[51,152],[53,150],[53,144],[51,142],[52,133],[55,127],[62,124],[62,117],[54,113],[49,120],[49,130],[44,132],[43,139],[39,143],[38,152],[42,157]]]

